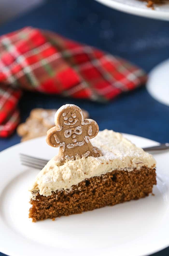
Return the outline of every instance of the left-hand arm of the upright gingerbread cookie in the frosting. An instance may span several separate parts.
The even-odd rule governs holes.
[[[61,141],[58,135],[59,135],[59,131],[56,130],[56,126],[52,127],[47,131],[46,142],[48,143],[49,146],[52,146],[52,147],[61,146]]]

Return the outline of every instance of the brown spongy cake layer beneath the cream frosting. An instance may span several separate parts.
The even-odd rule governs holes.
[[[36,222],[137,200],[152,193],[153,185],[156,185],[155,168],[142,166],[130,172],[116,169],[86,178],[70,189],[52,191],[49,196],[38,193],[30,200],[29,218]]]

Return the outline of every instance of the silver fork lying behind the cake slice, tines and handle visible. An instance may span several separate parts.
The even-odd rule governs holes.
[[[153,147],[145,147],[144,151],[147,152],[160,152],[164,150],[169,150],[169,143],[160,144]],[[20,153],[20,161],[22,165],[26,165],[35,169],[43,169],[43,167],[49,162],[47,159],[37,158],[33,156],[28,156]]]

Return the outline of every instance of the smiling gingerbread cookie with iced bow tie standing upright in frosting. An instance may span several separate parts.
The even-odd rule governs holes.
[[[60,147],[58,158],[66,160],[102,155],[89,139],[94,138],[99,127],[92,119],[84,119],[82,110],[72,104],[63,105],[55,114],[55,126],[47,132],[47,143]]]

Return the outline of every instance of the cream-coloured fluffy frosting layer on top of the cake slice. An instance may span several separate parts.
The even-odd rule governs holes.
[[[39,172],[35,182],[30,188],[32,198],[37,191],[40,195],[49,196],[52,191],[71,189],[86,178],[99,176],[113,170],[132,171],[134,168],[147,166],[154,167],[156,162],[152,155],[136,147],[122,134],[112,130],[100,131],[91,139],[92,145],[98,147],[103,156],[67,161],[60,165],[56,157],[53,157]]]

